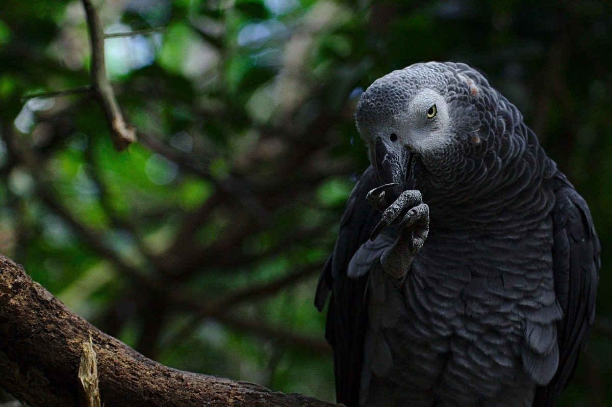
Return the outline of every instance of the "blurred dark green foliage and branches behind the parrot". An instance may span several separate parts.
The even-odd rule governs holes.
[[[467,62],[523,112],[602,243],[597,319],[559,405],[612,405],[612,7],[597,1],[102,1],[140,142],[88,94],[79,1],[0,1],[0,252],[163,364],[332,400],[316,277],[357,174],[357,95]]]

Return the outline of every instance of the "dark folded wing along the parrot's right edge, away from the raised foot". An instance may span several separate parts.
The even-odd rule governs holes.
[[[553,208],[554,290],[564,318],[557,324],[559,367],[535,393],[534,406],[554,406],[567,386],[595,317],[599,240],[589,208],[569,183],[556,191]]]

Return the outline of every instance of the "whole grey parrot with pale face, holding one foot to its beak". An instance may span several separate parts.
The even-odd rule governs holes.
[[[372,165],[315,299],[338,402],[553,406],[594,318],[584,199],[468,65],[389,73],[356,123]]]

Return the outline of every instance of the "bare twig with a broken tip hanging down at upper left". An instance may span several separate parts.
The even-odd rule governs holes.
[[[91,76],[94,81],[94,90],[108,120],[115,149],[118,151],[127,148],[136,141],[136,131],[125,122],[119,104],[106,77],[104,62],[104,32],[98,12],[91,0],[83,0],[85,16],[89,28],[89,41],[91,45]]]

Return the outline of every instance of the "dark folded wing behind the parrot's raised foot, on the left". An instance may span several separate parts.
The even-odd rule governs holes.
[[[325,336],[334,350],[336,398],[338,403],[359,403],[359,381],[364,357],[364,334],[367,312],[365,292],[367,274],[347,276],[347,268],[359,247],[370,238],[380,214],[365,200],[378,186],[375,172],[368,167],[355,185],[340,220],[340,232],[333,254],[327,259],[319,277],[315,305],[323,310],[331,292]]]

